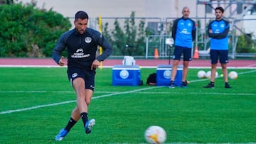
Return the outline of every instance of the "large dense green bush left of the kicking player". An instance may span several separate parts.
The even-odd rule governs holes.
[[[68,18],[35,4],[0,5],[0,57],[49,57]]]

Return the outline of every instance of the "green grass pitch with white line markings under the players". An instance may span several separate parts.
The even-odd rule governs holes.
[[[235,70],[232,89],[221,77],[215,89],[203,89],[209,79],[198,79],[198,70],[188,71],[188,89],[167,89],[145,85],[153,68],[142,68],[138,87],[112,86],[112,69],[98,69],[92,133],[78,121],[55,142],[75,107],[66,68],[1,67],[0,143],[146,143],[152,125],[166,130],[166,143],[256,143],[256,70]]]

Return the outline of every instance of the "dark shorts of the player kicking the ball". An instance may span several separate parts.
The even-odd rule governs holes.
[[[95,88],[95,70],[87,70],[78,67],[68,68],[68,79],[70,84],[73,84],[73,80],[81,77],[85,80],[85,89],[91,89],[94,91]]]

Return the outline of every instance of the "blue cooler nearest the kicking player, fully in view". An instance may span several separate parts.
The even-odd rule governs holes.
[[[112,68],[112,85],[114,86],[139,86],[139,65],[114,65]]]

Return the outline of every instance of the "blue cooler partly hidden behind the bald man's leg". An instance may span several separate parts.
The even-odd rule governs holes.
[[[169,86],[171,84],[171,68],[172,65],[158,65],[156,67],[156,85]],[[174,79],[174,84],[180,86],[182,82],[183,65],[178,65],[177,74]]]

